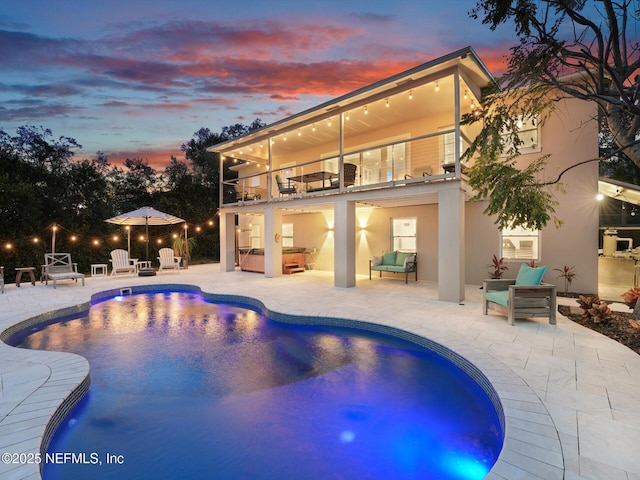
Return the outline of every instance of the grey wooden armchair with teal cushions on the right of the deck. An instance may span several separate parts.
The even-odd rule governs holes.
[[[549,317],[556,324],[556,286],[542,283],[548,267],[532,268],[526,263],[520,266],[515,279],[485,280],[482,313],[487,314],[489,303],[507,309],[507,323],[516,318]]]

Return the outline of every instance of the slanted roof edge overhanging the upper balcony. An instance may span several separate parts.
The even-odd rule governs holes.
[[[472,47],[449,53],[430,62],[393,75],[379,82],[337,97],[316,107],[279,120],[264,128],[241,137],[207,148],[209,152],[224,153],[235,148],[260,142],[270,137],[297,128],[299,125],[320,121],[343,111],[353,109],[367,102],[384,98],[413,86],[436,81],[455,71],[460,71],[474,95],[480,98],[480,89],[494,79]]]

